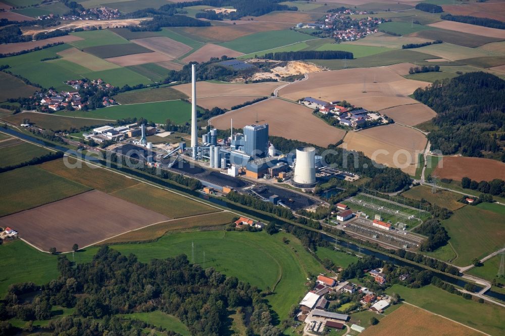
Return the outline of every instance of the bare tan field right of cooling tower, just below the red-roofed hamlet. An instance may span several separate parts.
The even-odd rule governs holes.
[[[372,160],[414,175],[419,154],[427,139],[416,130],[396,124],[378,126],[358,132],[347,132],[340,147],[363,152]]]

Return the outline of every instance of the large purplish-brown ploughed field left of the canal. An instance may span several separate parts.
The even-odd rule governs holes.
[[[48,251],[71,251],[72,245],[88,246],[126,231],[169,218],[157,212],[91,190],[58,202],[0,218],[0,226],[10,226],[20,238]]]

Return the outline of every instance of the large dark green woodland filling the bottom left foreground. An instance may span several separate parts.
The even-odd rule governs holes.
[[[78,265],[61,255],[57,267],[60,276],[47,284],[12,285],[0,304],[0,318],[53,317],[45,329],[55,334],[140,335],[145,323],[117,315],[160,310],[179,318],[193,335],[220,335],[233,308],[248,312],[247,334],[259,334],[267,326],[272,334],[280,334],[258,288],[213,267],[191,264],[185,255],[147,264],[133,254],[102,247],[90,262]],[[21,299],[27,294],[35,294],[33,300]],[[54,317],[51,310],[56,305],[75,308],[75,317]]]

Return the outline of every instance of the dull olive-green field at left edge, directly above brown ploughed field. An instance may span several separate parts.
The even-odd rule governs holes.
[[[0,185],[3,198],[0,216],[91,190],[33,165],[0,174]]]

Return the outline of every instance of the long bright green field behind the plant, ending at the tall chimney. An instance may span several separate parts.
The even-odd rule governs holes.
[[[191,119],[191,104],[182,100],[169,100],[150,103],[114,105],[93,111],[58,111],[57,115],[119,120],[123,118],[144,118],[164,124],[170,119],[175,124],[184,124]]]

